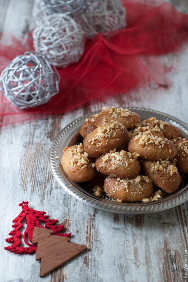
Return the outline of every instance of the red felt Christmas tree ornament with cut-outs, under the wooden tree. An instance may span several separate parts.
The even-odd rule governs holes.
[[[6,242],[10,243],[11,246],[5,247],[5,250],[10,252],[15,252],[16,254],[32,254],[36,252],[36,245],[32,244],[33,230],[35,227],[47,228],[52,230],[53,235],[70,237],[71,233],[61,233],[64,231],[64,225],[56,225],[58,220],[49,219],[48,215],[45,215],[45,212],[33,210],[28,206],[29,202],[24,202],[19,204],[22,207],[21,213],[12,221],[14,224],[12,227],[14,228],[8,235],[10,238],[5,239]],[[23,239],[28,247],[21,246],[21,231],[20,229],[23,227],[22,222],[26,220],[26,230],[23,234]],[[40,223],[45,223],[45,226],[42,226]]]

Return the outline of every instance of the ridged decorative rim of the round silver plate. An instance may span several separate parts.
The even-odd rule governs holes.
[[[181,120],[174,118],[171,115],[164,114],[163,112],[147,109],[147,108],[139,108],[139,107],[126,107],[130,111],[135,112],[144,112],[146,115],[148,114],[151,116],[161,116],[161,119],[165,119],[169,123],[175,122],[178,127],[184,131],[184,133],[188,136],[188,125],[182,122]],[[184,203],[188,200],[188,183],[181,188],[180,190],[176,191],[168,195],[167,197],[153,201],[150,203],[117,203],[116,201],[111,201],[108,199],[99,198],[88,191],[83,190],[80,191],[80,186],[76,182],[72,182],[70,178],[67,176],[65,179],[60,172],[59,166],[57,164],[57,150],[59,148],[60,143],[62,142],[63,138],[67,135],[67,133],[74,128],[76,125],[82,125],[82,122],[85,121],[91,115],[95,115],[99,111],[91,112],[90,114],[83,115],[79,118],[76,118],[72,122],[70,122],[67,126],[65,126],[55,137],[52,146],[49,152],[49,161],[50,161],[50,168],[52,171],[53,176],[55,177],[56,181],[59,185],[68,192],[71,196],[76,198],[77,200],[85,203],[89,206],[113,212],[113,213],[123,213],[123,214],[139,214],[139,213],[153,213],[162,210],[167,210],[172,207],[178,206],[181,203]],[[70,180],[70,181],[69,181]],[[72,185],[73,184],[73,185]]]

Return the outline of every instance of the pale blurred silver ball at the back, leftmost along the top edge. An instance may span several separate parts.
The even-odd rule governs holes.
[[[33,18],[36,24],[39,24],[40,21],[46,16],[52,15],[53,12],[50,11],[44,2],[44,0],[35,0],[33,5]]]

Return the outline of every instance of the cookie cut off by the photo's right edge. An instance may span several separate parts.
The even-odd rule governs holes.
[[[176,155],[176,166],[178,171],[188,173],[188,138],[183,138],[176,141],[177,155]]]

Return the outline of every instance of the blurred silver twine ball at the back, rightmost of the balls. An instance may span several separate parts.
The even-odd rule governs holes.
[[[99,32],[109,32],[125,28],[125,8],[119,0],[90,0],[85,12],[76,15],[87,37],[93,37]]]

